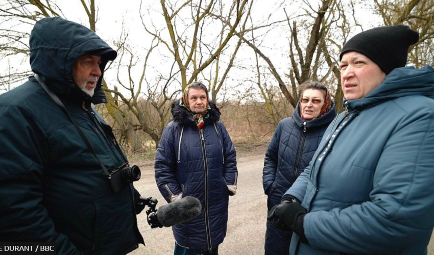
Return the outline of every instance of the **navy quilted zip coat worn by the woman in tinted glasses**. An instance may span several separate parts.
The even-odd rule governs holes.
[[[292,117],[277,125],[268,146],[262,173],[262,185],[268,195],[268,209],[280,203],[282,195],[309,165],[327,126],[336,116],[334,103],[328,113],[306,121],[300,117],[300,103]]]

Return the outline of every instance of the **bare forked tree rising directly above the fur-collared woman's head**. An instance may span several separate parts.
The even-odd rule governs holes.
[[[208,79],[209,85],[212,84],[212,97],[215,99],[232,66],[231,63],[233,63],[233,60],[231,60],[223,77],[219,79],[219,70],[221,68],[220,56],[234,36],[234,31],[245,13],[247,0],[234,0],[229,11],[226,13],[225,9],[227,8],[224,8],[225,2],[221,0],[209,1],[208,3],[201,0],[198,4],[193,3],[191,0],[176,4],[161,0],[160,3],[165,21],[164,32],[168,34],[169,38],[164,38],[156,28],[151,31],[143,23],[144,29],[149,34],[158,38],[176,61],[182,88],[185,88],[193,81],[197,81],[199,74],[205,68],[209,67],[212,63],[216,63],[215,76],[213,75],[213,79],[211,77]],[[187,20],[180,16],[180,12],[185,8],[189,9],[191,19]],[[208,23],[212,22],[211,17],[213,15],[225,16],[228,19],[232,18],[234,22],[232,25],[222,25],[218,40],[207,41],[201,35]],[[177,27],[177,24],[180,23],[185,23],[186,25],[184,27],[178,25]],[[235,47],[231,59],[235,58],[238,47]],[[213,80],[212,82],[211,79]]]

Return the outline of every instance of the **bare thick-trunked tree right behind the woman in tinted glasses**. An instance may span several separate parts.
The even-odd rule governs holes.
[[[249,39],[243,33],[237,33],[237,36],[250,46],[255,54],[266,61],[271,74],[277,80],[281,92],[293,107],[297,105],[297,99],[299,98],[297,91],[300,84],[311,79],[324,82],[330,73],[334,73],[333,69],[335,69],[335,61],[332,61],[328,56],[330,65],[327,68],[328,71],[323,71],[324,66],[327,64],[326,57],[324,57],[327,52],[323,50],[323,45],[325,45],[325,38],[329,36],[330,27],[337,21],[335,12],[339,12],[337,5],[340,2],[336,0],[323,0],[321,1],[321,6],[317,9],[310,6],[308,2],[304,3],[306,5],[305,17],[307,18],[302,22],[303,27],[301,29],[297,21],[294,20],[291,24],[290,20],[293,18],[289,17],[285,12],[286,21],[291,32],[288,51],[290,53],[292,68],[287,75],[291,86],[284,82],[282,74],[277,71],[272,60],[259,48],[260,45],[254,43],[254,38]],[[297,16],[297,18],[300,18],[300,16]],[[254,29],[252,28],[252,30]],[[299,31],[307,31],[305,34],[308,35],[308,40],[303,46],[299,40]],[[288,87],[291,88],[291,92]]]

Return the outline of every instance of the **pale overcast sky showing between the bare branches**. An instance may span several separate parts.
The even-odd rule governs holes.
[[[0,2],[4,2],[7,0],[0,0]],[[83,6],[81,5],[79,0],[71,0],[71,1],[57,1],[59,7],[62,9],[64,16],[72,21],[84,24],[88,26],[88,20],[84,13]],[[120,4],[119,4],[120,3]],[[181,3],[181,2],[180,2]],[[231,1],[224,1],[223,3],[230,4]],[[283,4],[282,4],[283,3]],[[295,16],[300,12],[300,6],[303,5],[302,1],[276,1],[276,0],[256,0],[254,2],[253,10],[252,10],[252,21],[253,23],[264,23],[267,20],[277,21],[283,20],[285,18],[285,14],[283,9],[286,10],[288,15]],[[314,5],[316,6],[316,5]],[[124,0],[124,1],[115,1],[115,0],[104,0],[97,1],[97,9],[98,9],[98,21],[97,21],[97,34],[106,40],[109,45],[115,47],[114,41],[119,39],[119,35],[121,33],[128,34],[128,44],[131,46],[133,53],[139,59],[137,59],[137,65],[141,66],[143,63],[144,56],[146,56],[147,50],[150,48],[152,37],[146,33],[142,27],[140,13],[149,28],[152,29],[152,25],[154,24],[157,28],[164,27],[164,17],[161,14],[161,4],[158,0],[144,0],[142,3],[142,7],[140,10],[140,1],[139,0]],[[363,8],[366,8],[364,11]],[[186,12],[182,15],[188,16],[188,7],[185,8]],[[362,22],[365,29],[369,29],[376,24],[379,23],[379,19],[373,15],[369,15],[369,6],[359,6],[358,9],[360,11],[356,12],[356,18]],[[215,20],[215,30],[219,28],[219,22]],[[286,25],[287,26],[287,25]],[[28,30],[30,33],[31,26],[23,27],[23,30]],[[207,26],[206,36],[208,36],[211,40],[213,39],[213,23],[210,23]],[[359,28],[355,28],[354,34],[358,33]],[[263,31],[255,32],[255,36],[260,36],[264,33]],[[168,39],[168,34],[166,31],[162,32],[162,36]],[[285,72],[287,73],[289,70],[287,60],[287,48],[288,48],[288,29],[285,28],[282,24],[281,28],[276,28],[267,33],[263,44],[261,45],[261,49],[264,54],[266,54],[274,63],[276,68],[279,70],[281,75]],[[205,40],[206,38],[204,38]],[[303,40],[303,38],[301,38]],[[234,45],[237,41],[237,38],[233,38],[231,41],[231,45]],[[230,51],[231,52],[231,51]],[[229,52],[228,52],[229,54]],[[146,73],[146,76],[150,83],[155,81],[155,77],[158,74],[167,74],[170,70],[173,62],[170,58],[167,50],[160,45],[159,49],[156,50],[150,58],[149,67]],[[24,61],[23,56],[14,57],[11,60],[3,59],[0,60],[0,71],[5,73],[5,69],[7,68],[7,63],[10,63],[14,68],[20,69],[30,69],[30,64],[28,59]],[[243,83],[246,80],[246,77],[253,77],[252,66],[255,61],[255,55],[253,54],[251,48],[244,45],[240,48],[237,54],[237,61],[235,63],[235,67],[231,69],[230,77],[226,81],[228,84],[228,89],[232,92],[235,91],[238,84]],[[223,60],[224,61],[224,60]],[[260,59],[260,63],[263,66],[266,64],[263,60]],[[265,67],[264,67],[265,68]],[[205,70],[205,76],[210,76],[210,73],[213,72],[212,68],[208,68]],[[140,77],[141,68],[135,68],[133,70],[133,76],[136,80]],[[125,73],[124,73],[125,75]],[[121,75],[122,76],[122,75]],[[116,79],[116,71],[109,70],[105,74],[106,80],[109,82],[109,86],[111,83],[115,83]],[[121,77],[122,79],[122,77]],[[250,79],[250,78],[249,78]],[[249,80],[247,79],[247,80]],[[201,80],[201,78],[199,78]],[[126,80],[125,80],[126,81]],[[270,81],[272,82],[272,81]],[[235,92],[237,93],[237,92]],[[233,93],[232,93],[233,94]]]

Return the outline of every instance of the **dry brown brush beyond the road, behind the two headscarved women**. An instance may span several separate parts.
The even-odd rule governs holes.
[[[290,116],[293,111],[287,104],[278,106],[280,109],[275,109],[275,112],[277,112],[276,115],[278,116],[273,118],[270,116],[266,105],[260,102],[249,102],[248,104],[226,102],[220,105],[221,121],[225,124],[237,149],[237,155],[248,154],[256,150],[264,150],[264,148],[267,147],[277,125],[276,121],[278,122],[283,117]],[[112,118],[106,113],[105,107],[99,107],[98,111],[102,113],[106,121],[113,126],[119,144],[127,152],[131,160],[153,162],[156,146],[148,134],[141,130],[136,131],[142,142],[142,149],[132,152],[128,145],[128,140],[125,139],[125,136],[122,134],[123,130],[115,124]],[[157,128],[159,118],[155,109],[148,105],[144,112],[147,113],[146,117],[149,118],[149,123]],[[169,117],[171,117],[171,115],[167,116],[166,122],[171,120]],[[134,122],[137,123],[137,120],[134,120]]]

